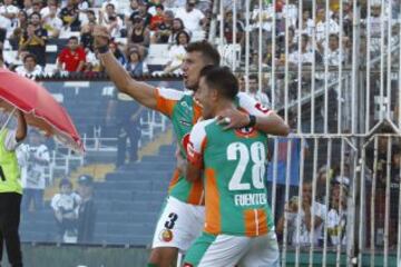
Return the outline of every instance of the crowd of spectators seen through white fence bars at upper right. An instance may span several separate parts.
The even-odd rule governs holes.
[[[287,4],[286,4],[287,2]],[[250,70],[257,72],[260,70],[260,58],[262,58],[263,86],[267,96],[271,98],[272,80],[274,79],[275,102],[278,106],[284,105],[284,92],[288,86],[290,101],[297,98],[297,86],[301,80],[302,96],[310,93],[312,81],[315,90],[322,89],[327,79],[329,85],[335,87],[339,80],[339,67],[342,66],[342,77],[351,77],[352,56],[360,52],[358,62],[361,66],[366,63],[366,51],[370,51],[371,59],[380,55],[381,28],[383,24],[384,43],[392,42],[398,36],[398,19],[400,16],[399,7],[395,1],[385,1],[382,7],[381,1],[366,1],[358,4],[360,8],[360,24],[358,34],[353,34],[353,4],[352,1],[343,1],[343,9],[340,10],[340,1],[330,1],[326,10],[325,1],[316,1],[316,10],[312,10],[312,2],[302,3],[302,17],[300,17],[297,0],[277,0],[273,7],[272,1],[264,1],[260,9],[258,1],[250,2],[250,21],[246,21],[245,1],[237,1],[236,26],[233,20],[233,3],[225,1],[223,43],[227,44],[226,63],[232,62],[232,53],[228,52],[229,44],[233,43],[234,28],[236,30],[236,43],[239,44],[242,58],[237,59],[239,67],[244,67],[244,55],[246,52],[246,31],[250,31]],[[392,4],[392,13],[389,14],[389,7]],[[370,10],[368,10],[370,9]],[[275,11],[275,12],[274,12]],[[370,12],[368,12],[370,11]],[[315,14],[313,14],[315,12]],[[370,13],[370,14],[369,14]],[[275,16],[275,18],[274,18]],[[341,17],[342,16],[342,17]],[[388,40],[389,16],[393,19],[391,39]],[[382,19],[384,17],[384,19]],[[274,20],[275,19],[275,29]],[[262,20],[262,21],[261,21]],[[260,52],[260,29],[262,28],[262,53]],[[370,36],[368,34],[370,28]],[[221,37],[221,27],[217,26],[217,37]],[[275,34],[273,37],[273,34]],[[358,41],[358,51],[353,51],[353,39]],[[273,38],[275,47],[273,48]],[[366,48],[366,38],[370,38],[370,48]],[[300,40],[301,39],[301,40]],[[274,51],[273,51],[274,49]],[[234,49],[233,49],[234,51]],[[275,77],[272,77],[271,68],[275,65]],[[301,62],[301,71],[299,63]],[[284,66],[288,63],[290,71],[284,72]],[[314,63],[316,71],[312,72]],[[327,66],[329,73],[324,73]],[[371,66],[372,69],[374,68]],[[378,67],[378,66],[376,66]],[[378,67],[379,68],[379,67]],[[239,68],[238,70],[241,70]],[[284,79],[286,77],[286,79]],[[370,73],[372,80],[375,79],[373,72]],[[285,82],[288,81],[287,83]],[[378,86],[371,82],[372,90],[378,91]],[[335,88],[335,90],[340,90]],[[343,91],[343,96],[349,90]]]

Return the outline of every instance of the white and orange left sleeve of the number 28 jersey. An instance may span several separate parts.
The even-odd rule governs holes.
[[[202,168],[203,152],[206,145],[206,131],[204,121],[194,126],[189,135],[189,142],[187,146],[187,159],[190,164]]]

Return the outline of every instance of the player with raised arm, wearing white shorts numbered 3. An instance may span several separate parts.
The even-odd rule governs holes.
[[[147,108],[158,110],[170,118],[177,136],[180,157],[186,158],[185,145],[193,125],[199,119],[202,108],[193,93],[165,88],[155,88],[133,79],[124,67],[108,51],[109,34],[104,27],[95,27],[95,46],[110,79],[120,92],[127,93]],[[205,66],[218,66],[218,51],[208,42],[193,42],[186,48],[183,63],[184,83],[188,90],[196,91],[199,72]],[[287,135],[288,127],[273,111],[264,108],[245,93],[238,93],[239,110],[227,110],[221,116],[229,121],[227,128],[255,125],[265,134]],[[156,226],[149,267],[170,266],[178,250],[186,251],[192,241],[199,236],[204,224],[204,194],[202,181],[188,182],[184,168],[174,172],[169,196]]]

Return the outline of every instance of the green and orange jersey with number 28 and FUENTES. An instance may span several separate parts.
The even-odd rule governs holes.
[[[194,126],[187,155],[205,170],[206,233],[254,237],[273,228],[266,152],[267,136],[255,129],[223,130],[215,119]]]

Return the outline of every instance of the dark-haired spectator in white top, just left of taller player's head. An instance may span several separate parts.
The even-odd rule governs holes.
[[[182,73],[180,66],[186,55],[186,46],[189,43],[190,37],[186,31],[177,33],[176,43],[168,50],[169,60],[164,69],[165,73]]]

